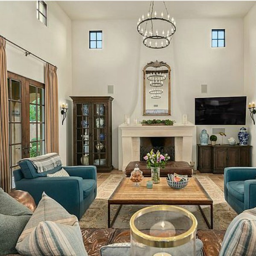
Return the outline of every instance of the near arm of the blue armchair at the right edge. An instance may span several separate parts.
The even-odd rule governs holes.
[[[244,181],[244,209],[256,207],[256,180]]]

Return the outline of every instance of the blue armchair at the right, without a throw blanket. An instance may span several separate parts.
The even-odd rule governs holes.
[[[237,212],[256,207],[256,167],[224,169],[226,201]]]

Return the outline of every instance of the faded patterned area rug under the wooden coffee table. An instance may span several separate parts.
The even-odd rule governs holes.
[[[209,196],[213,200],[213,227],[214,229],[227,229],[233,218],[236,217],[236,212],[227,204],[224,199],[224,193],[221,189],[207,176],[195,176],[199,182],[204,186]],[[122,175],[111,175],[99,187],[98,195],[91,204],[90,208],[84,213],[80,220],[80,227],[90,228],[106,228],[108,216],[108,198],[122,180]],[[145,205],[123,205],[113,227],[129,228],[129,221],[131,216]],[[197,206],[181,206],[192,212],[198,220],[198,229],[207,229],[207,224],[201,215]],[[118,206],[111,206],[111,218],[115,214]],[[209,216],[209,207],[204,206],[205,214]]]

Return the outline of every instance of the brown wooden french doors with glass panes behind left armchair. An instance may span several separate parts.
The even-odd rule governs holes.
[[[10,172],[26,157],[45,154],[44,84],[8,72]],[[12,188],[15,187],[12,175]]]

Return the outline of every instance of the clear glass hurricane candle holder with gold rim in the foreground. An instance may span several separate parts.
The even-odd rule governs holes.
[[[177,206],[154,205],[130,220],[131,256],[195,256],[197,220]]]

